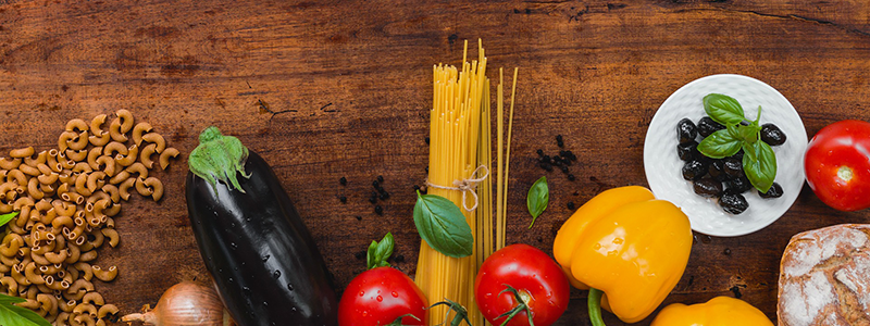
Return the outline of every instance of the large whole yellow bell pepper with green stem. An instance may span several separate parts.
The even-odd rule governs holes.
[[[583,204],[556,235],[554,256],[572,285],[592,288],[589,315],[604,325],[598,300],[626,323],[652,313],[683,276],[691,249],[688,217],[629,186]]]

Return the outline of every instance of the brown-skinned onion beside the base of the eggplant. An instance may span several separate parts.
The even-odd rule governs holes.
[[[139,321],[154,326],[235,325],[217,293],[191,281],[183,281],[169,288],[153,310],[128,314],[121,321]]]

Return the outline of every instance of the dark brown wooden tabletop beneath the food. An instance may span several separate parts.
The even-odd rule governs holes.
[[[569,202],[647,185],[647,125],[671,92],[698,77],[733,73],[770,84],[809,136],[838,120],[870,120],[862,0],[0,3],[0,151],[49,149],[66,121],[117,109],[185,154],[200,130],[220,126],[272,164],[339,291],[364,268],[355,253],[387,231],[403,258],[395,266],[414,273],[412,187],[427,164],[431,67],[457,64],[464,39],[484,40],[490,78],[494,67],[520,67],[507,239],[547,252]],[[535,150],[555,152],[559,134],[580,156],[575,181],[535,166]],[[186,160],[160,175],[164,199],[125,204],[116,218],[122,244],[100,253],[101,265],[122,274],[98,288],[124,313],[154,304],[182,271],[204,272],[183,196]],[[383,216],[368,202],[377,175],[391,195]],[[542,175],[550,206],[530,230],[525,191]],[[696,235],[664,303],[739,296],[775,319],[790,237],[868,217],[834,211],[805,187],[760,231]],[[588,323],[585,296],[572,292],[560,325]]]

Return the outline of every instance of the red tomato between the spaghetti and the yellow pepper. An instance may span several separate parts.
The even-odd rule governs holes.
[[[527,244],[511,244],[496,251],[483,262],[474,281],[477,308],[489,323],[501,325],[499,315],[511,311],[519,302],[510,291],[511,286],[520,293],[532,313],[535,326],[547,326],[568,309],[568,278],[559,265],[546,253]],[[529,325],[526,311],[517,314],[508,326]]]

